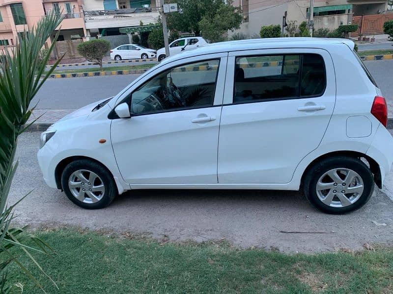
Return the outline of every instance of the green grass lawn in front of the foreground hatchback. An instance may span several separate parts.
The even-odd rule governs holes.
[[[393,248],[286,255],[223,241],[174,244],[64,229],[36,234],[56,250],[34,256],[58,291],[29,267],[48,293],[393,293]],[[42,293],[21,270],[10,270],[23,293]]]

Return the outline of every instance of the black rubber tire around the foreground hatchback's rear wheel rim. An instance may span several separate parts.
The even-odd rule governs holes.
[[[352,170],[361,177],[363,180],[363,192],[359,196],[358,200],[354,203],[343,206],[343,207],[332,207],[322,202],[317,194],[317,182],[322,177],[325,172],[329,172],[334,169],[349,169]],[[338,172],[340,173],[340,172]],[[337,174],[337,173],[336,173]],[[343,175],[344,176],[344,175]],[[329,180],[330,182],[330,180]],[[344,183],[345,184],[345,183]],[[336,183],[334,185],[337,185]],[[338,190],[345,189],[341,188],[341,183],[338,183]],[[336,188],[335,188],[336,189]],[[326,158],[320,162],[313,165],[304,177],[303,181],[303,191],[309,202],[322,212],[329,214],[344,214],[361,208],[370,199],[372,193],[374,192],[374,177],[370,169],[365,165],[363,161],[355,157],[337,156],[332,158]],[[334,193],[336,190],[333,190]],[[342,190],[345,191],[345,190]],[[330,190],[329,190],[330,192]],[[325,192],[327,193],[327,192]],[[338,194],[335,193],[336,195]],[[349,196],[354,196],[355,194],[349,194]],[[358,194],[359,195],[359,194]],[[340,194],[341,196],[341,194]],[[347,196],[348,198],[348,196]],[[333,200],[338,199],[334,196]],[[339,199],[338,199],[339,200]],[[330,202],[330,201],[329,201]],[[341,202],[341,201],[340,201]],[[333,203],[333,202],[331,202]],[[342,202],[341,202],[342,203]]]

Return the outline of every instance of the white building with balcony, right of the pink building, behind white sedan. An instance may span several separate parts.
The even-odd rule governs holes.
[[[84,0],[87,36],[119,35],[120,28],[156,24],[159,0]]]

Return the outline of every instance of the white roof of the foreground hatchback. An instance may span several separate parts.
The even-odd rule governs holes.
[[[200,38],[200,37],[196,37]],[[331,45],[348,46],[351,50],[354,49],[355,43],[348,39],[339,38],[310,38],[310,37],[290,37],[290,38],[264,38],[264,39],[250,39],[227,41],[203,45],[197,49],[189,50],[169,56],[165,58],[162,63],[168,63],[174,60],[193,57],[204,54],[243,51],[255,49],[278,49],[278,48],[318,48],[328,49]]]

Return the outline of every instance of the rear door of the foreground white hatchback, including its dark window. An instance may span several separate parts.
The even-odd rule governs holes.
[[[320,144],[336,81],[322,49],[229,53],[220,125],[219,183],[288,183]]]

